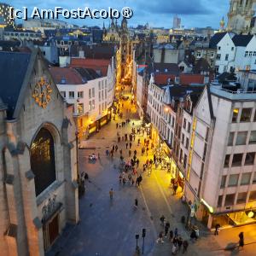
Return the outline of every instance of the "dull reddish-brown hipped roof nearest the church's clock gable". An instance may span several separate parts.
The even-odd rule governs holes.
[[[50,67],[51,73],[55,84],[61,83],[62,79],[65,79],[65,84],[84,84],[81,75],[72,67]]]

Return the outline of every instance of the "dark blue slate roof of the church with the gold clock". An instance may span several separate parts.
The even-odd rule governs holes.
[[[0,52],[0,96],[7,105],[8,119],[15,111],[30,58],[31,53]]]

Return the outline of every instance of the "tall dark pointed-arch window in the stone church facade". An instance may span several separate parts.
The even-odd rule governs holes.
[[[38,132],[32,143],[30,163],[35,175],[36,195],[39,195],[56,179],[54,139],[45,128]]]

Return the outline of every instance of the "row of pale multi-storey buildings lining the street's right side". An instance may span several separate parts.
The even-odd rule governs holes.
[[[235,85],[161,82],[152,73],[144,89],[137,87],[148,88],[142,115],[152,139],[190,201],[191,216],[208,228],[255,221],[255,85],[255,72],[240,71]]]

